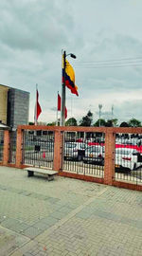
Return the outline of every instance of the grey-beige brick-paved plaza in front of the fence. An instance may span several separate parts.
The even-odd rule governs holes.
[[[0,256],[142,255],[142,193],[0,167]]]

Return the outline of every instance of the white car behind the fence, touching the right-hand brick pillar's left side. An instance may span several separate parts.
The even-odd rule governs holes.
[[[99,163],[104,164],[104,147],[99,145],[89,146],[85,150],[83,157],[84,163]]]

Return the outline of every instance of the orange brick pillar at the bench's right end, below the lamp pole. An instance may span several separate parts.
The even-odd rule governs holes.
[[[55,131],[53,170],[62,170],[62,133]]]

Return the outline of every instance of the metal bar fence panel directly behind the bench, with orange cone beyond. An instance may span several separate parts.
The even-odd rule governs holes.
[[[24,132],[23,163],[53,168],[54,132],[29,131]]]

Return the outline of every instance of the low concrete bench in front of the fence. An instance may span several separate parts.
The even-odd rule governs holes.
[[[25,168],[25,170],[27,171],[28,177],[33,176],[34,173],[44,174],[44,176],[47,178],[48,181],[53,180],[54,175],[58,174],[58,172],[56,172],[56,171],[42,169],[42,168],[36,168],[36,167],[27,167],[27,168]]]

